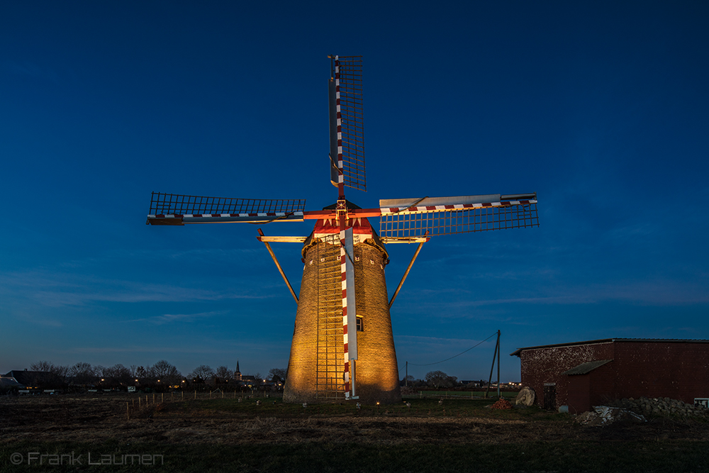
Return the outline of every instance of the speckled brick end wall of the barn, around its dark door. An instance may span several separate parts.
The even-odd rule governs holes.
[[[569,377],[561,374],[583,362],[612,360],[613,343],[592,343],[570,347],[523,350],[520,353],[522,384],[537,394],[535,404],[544,406],[544,384],[557,384],[556,408],[568,405]]]

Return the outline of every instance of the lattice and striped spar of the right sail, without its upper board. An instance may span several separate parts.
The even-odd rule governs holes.
[[[380,237],[452,235],[539,226],[536,200],[381,210]]]

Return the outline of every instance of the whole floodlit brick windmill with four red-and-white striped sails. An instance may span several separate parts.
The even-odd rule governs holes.
[[[231,199],[153,192],[147,223],[272,223],[315,220],[307,237],[257,237],[298,304],[284,401],[401,400],[389,308],[432,236],[539,226],[537,195],[488,194],[380,200],[359,208],[345,187],[366,191],[362,57],[330,56],[330,181],[337,202],[306,211],[303,199]],[[369,223],[379,218],[379,233]],[[270,243],[302,243],[300,297]],[[418,243],[391,299],[386,245]]]

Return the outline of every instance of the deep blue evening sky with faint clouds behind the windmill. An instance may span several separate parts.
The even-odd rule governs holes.
[[[328,54],[364,60],[348,199],[539,199],[539,228],[424,246],[402,376],[486,378],[493,340],[413,364],[498,329],[503,381],[517,347],[709,338],[707,24],[703,1],[4,2],[0,372],[286,367],[296,306],[257,227],[145,216],[151,191],[332,204]],[[299,245],[274,249],[297,290]],[[390,245],[389,294],[414,250]]]

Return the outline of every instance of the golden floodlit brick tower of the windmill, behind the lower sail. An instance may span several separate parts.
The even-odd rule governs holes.
[[[401,401],[384,267],[386,249],[366,219],[354,222],[359,401]],[[286,402],[345,399],[342,340],[342,270],[335,223],[318,221],[303,245],[305,269],[284,390]],[[350,328],[354,330],[354,328]]]

